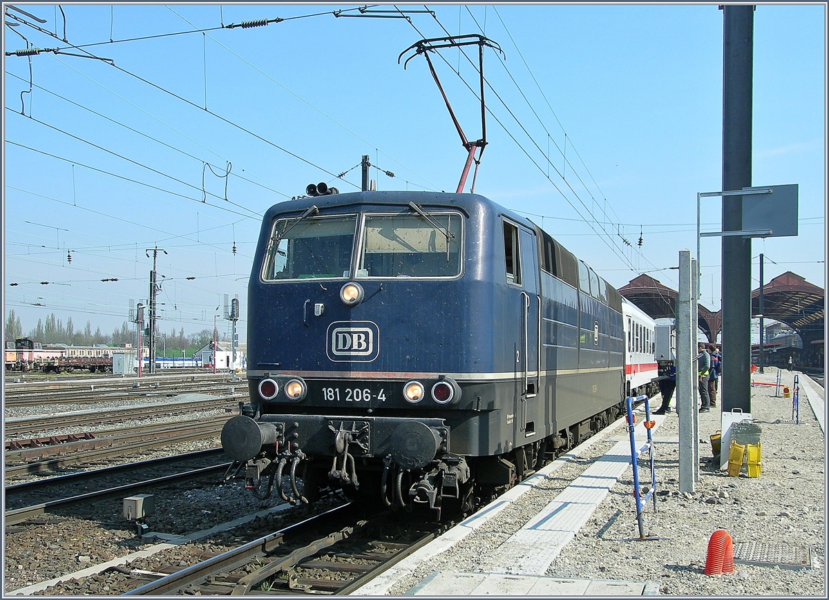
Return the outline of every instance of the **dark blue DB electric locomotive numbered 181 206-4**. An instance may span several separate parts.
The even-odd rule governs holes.
[[[308,501],[327,479],[468,509],[622,409],[621,296],[483,196],[273,206],[248,298],[250,404],[221,442],[259,497],[277,481]]]

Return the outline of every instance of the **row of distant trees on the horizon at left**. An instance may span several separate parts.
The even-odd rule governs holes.
[[[15,340],[18,337],[24,337],[23,327],[14,309],[8,312],[6,318],[5,339]],[[39,341],[41,344],[66,344],[67,346],[114,346],[122,347],[124,344],[132,344],[135,346],[136,335],[135,325],[133,323],[124,321],[120,328],[116,328],[110,334],[101,332],[100,327],[96,327],[92,331],[92,322],[87,321],[83,329],[75,329],[75,323],[72,322],[72,317],[66,317],[66,322],[57,318],[55,313],[46,317],[46,320],[37,319],[37,325],[33,327],[26,337],[33,341]],[[220,334],[219,339],[224,340],[226,334]],[[169,333],[158,331],[158,324],[156,325],[156,356],[181,356],[181,351],[185,351],[187,356],[191,356],[193,351],[198,350],[204,346],[208,341],[213,339],[212,329],[202,329],[198,333],[184,334],[184,327],[176,331],[175,327]],[[142,346],[146,346],[147,341],[142,339]]]

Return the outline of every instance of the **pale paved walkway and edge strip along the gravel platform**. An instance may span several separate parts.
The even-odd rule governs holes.
[[[652,415],[652,419],[656,422],[652,433],[656,433],[665,416]],[[486,559],[487,572],[431,573],[404,595],[655,595],[658,586],[647,581],[545,577],[546,570],[560,554],[561,549],[574,538],[594,510],[604,501],[604,497],[618,483],[619,478],[628,472],[631,447],[624,425],[624,417],[617,419],[599,435],[589,438],[573,451],[550,462],[433,543],[427,544],[380,577],[357,589],[354,595],[374,596],[388,593],[402,574],[451,549],[499,512],[508,510],[511,504],[526,492],[542,486],[548,477],[577,459],[595,443],[619,433],[625,433],[625,438],[618,438],[613,448],[555,496],[555,499],[544,506],[521,530],[492,549],[492,554]],[[643,423],[634,428],[634,435],[637,451],[642,452],[647,444],[647,430]]]

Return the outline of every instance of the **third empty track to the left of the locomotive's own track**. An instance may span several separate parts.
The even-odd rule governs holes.
[[[17,437],[23,433],[38,433],[57,428],[90,427],[107,423],[117,423],[127,419],[145,419],[169,414],[186,414],[196,410],[232,409],[247,394],[226,394],[220,397],[208,397],[206,394],[195,400],[173,400],[164,404],[144,404],[109,410],[87,410],[60,415],[42,415],[37,417],[17,417],[5,419],[3,427],[6,437]],[[10,445],[7,443],[7,448]]]

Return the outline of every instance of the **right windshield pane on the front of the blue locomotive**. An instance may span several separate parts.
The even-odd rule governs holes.
[[[460,215],[366,215],[357,277],[456,277],[461,272]]]

